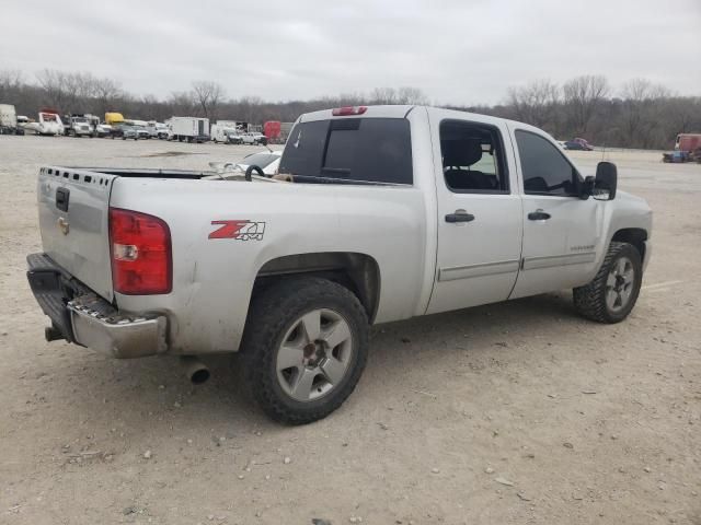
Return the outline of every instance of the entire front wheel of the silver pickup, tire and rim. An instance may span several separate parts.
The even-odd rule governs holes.
[[[572,291],[574,306],[599,323],[620,323],[635,306],[643,281],[641,254],[629,243],[612,242],[596,277]]]

